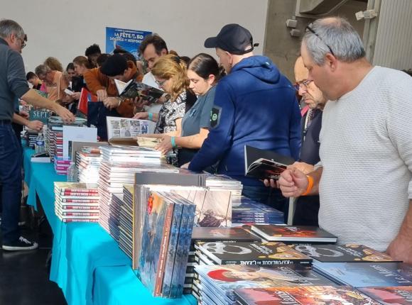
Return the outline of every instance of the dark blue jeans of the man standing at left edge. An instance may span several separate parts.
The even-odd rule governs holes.
[[[10,123],[0,122],[0,184],[3,243],[12,243],[20,236],[18,219],[21,204],[21,146]]]

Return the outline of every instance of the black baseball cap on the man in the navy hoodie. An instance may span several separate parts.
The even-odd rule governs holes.
[[[248,45],[251,45],[251,48],[244,50]],[[237,23],[227,24],[216,37],[205,40],[205,48],[221,48],[234,55],[249,53],[258,45],[259,43],[253,43],[249,30]]]

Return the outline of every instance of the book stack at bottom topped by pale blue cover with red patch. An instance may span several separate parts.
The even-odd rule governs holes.
[[[195,270],[199,277],[196,282],[199,294],[194,295],[202,304],[236,304],[234,289],[333,285],[312,270],[293,265],[268,268],[257,265],[200,265]],[[289,301],[283,304],[296,304],[293,299]]]

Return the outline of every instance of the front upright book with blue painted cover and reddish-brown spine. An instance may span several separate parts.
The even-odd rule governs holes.
[[[172,216],[173,203],[153,192],[145,211],[139,257],[139,277],[153,295],[156,283],[163,279],[162,264],[166,258],[166,239],[168,240]]]

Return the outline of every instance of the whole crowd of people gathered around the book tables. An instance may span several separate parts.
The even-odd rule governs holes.
[[[293,223],[320,226],[340,243],[362,243],[412,262],[412,79],[373,67],[359,34],[344,18],[318,19],[306,28],[295,85],[268,57],[254,55],[258,44],[234,23],[205,39],[219,62],[207,53],[179,56],[152,34],[139,47],[143,62],[124,50],[102,54],[91,45],[65,71],[49,57],[25,78],[20,53],[26,40],[17,23],[0,21],[0,145],[7,148],[0,154],[2,199],[7,199],[4,249],[35,247],[19,235],[16,221],[21,158],[15,156],[21,150],[16,135],[9,135],[11,121],[17,121],[16,100],[70,121],[86,88],[99,101],[87,119],[102,140],[107,140],[106,116],[156,122],[148,136],[161,139],[156,149],[162,153],[178,148],[178,166],[227,174],[242,182],[244,196],[286,215],[287,198],[295,197]],[[143,82],[164,94],[154,103],[122,99],[116,79]],[[245,145],[296,162],[278,181],[246,177]]]

